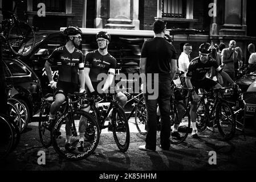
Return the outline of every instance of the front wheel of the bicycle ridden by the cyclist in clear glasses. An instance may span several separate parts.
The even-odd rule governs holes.
[[[117,104],[113,108],[111,125],[117,147],[121,152],[127,151],[130,143],[129,124],[123,108]]]

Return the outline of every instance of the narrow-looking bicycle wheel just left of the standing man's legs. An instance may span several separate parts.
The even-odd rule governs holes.
[[[144,97],[141,97],[136,105],[135,125],[140,134],[147,134],[147,109]]]

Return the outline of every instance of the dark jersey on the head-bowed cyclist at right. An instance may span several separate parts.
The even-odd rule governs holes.
[[[219,67],[215,59],[210,57],[204,64],[201,62],[200,57],[196,57],[190,62],[186,76],[191,77],[193,80],[202,80],[205,78],[206,73],[210,71],[211,67],[214,67],[215,69]]]

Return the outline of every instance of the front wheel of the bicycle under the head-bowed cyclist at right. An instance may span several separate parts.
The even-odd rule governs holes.
[[[225,101],[218,103],[216,109],[217,127],[224,140],[230,140],[234,137],[236,122],[234,112]]]

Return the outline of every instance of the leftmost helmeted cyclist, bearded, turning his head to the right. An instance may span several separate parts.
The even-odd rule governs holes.
[[[65,101],[67,93],[74,93],[79,90],[78,87],[78,70],[79,70],[79,81],[81,90],[84,91],[84,63],[83,63],[83,53],[79,51],[76,47],[79,46],[82,38],[82,31],[78,27],[67,27],[64,30],[64,35],[67,36],[67,43],[65,46],[56,48],[48,60],[46,61],[44,67],[47,73],[47,77],[50,81],[51,88],[56,89],[55,101],[51,104],[50,117],[48,124],[50,127],[53,125],[55,119],[55,113],[58,111],[59,107]],[[51,65],[58,65],[59,78],[58,82],[55,82],[52,78]],[[70,144],[70,135],[67,132],[67,139],[65,148],[67,151],[75,150]]]

